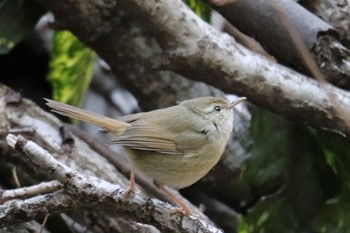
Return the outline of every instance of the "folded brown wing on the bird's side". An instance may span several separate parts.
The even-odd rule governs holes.
[[[208,128],[208,124],[203,121],[194,123],[190,119],[191,117],[182,116],[173,116],[169,119],[159,110],[152,115],[149,113],[128,115],[119,120],[130,126],[111,144],[162,154],[188,154],[208,142],[208,132],[204,130]]]

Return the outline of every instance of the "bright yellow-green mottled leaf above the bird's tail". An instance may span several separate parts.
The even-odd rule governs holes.
[[[56,32],[48,79],[53,98],[80,105],[93,76],[96,54],[68,31]]]

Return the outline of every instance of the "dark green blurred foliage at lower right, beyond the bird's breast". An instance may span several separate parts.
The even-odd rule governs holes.
[[[325,153],[308,128],[263,109],[253,111],[251,127],[254,147],[237,190],[243,203],[257,203],[241,221],[241,233],[337,232],[350,222],[339,205],[350,203],[340,181],[349,177],[335,172],[344,167],[337,166],[334,148]]]

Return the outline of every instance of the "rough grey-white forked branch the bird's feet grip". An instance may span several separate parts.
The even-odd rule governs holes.
[[[126,190],[121,186],[111,184],[94,176],[80,174],[78,171],[58,162],[48,151],[32,141],[27,141],[22,136],[17,137],[9,134],[6,137],[6,141],[10,147],[23,152],[38,167],[64,184],[63,190],[69,196],[68,198],[66,195],[55,196],[55,198],[53,196],[46,196],[46,198],[39,196],[22,203],[17,201],[15,207],[13,203],[4,204],[2,208],[0,207],[0,212],[7,214],[3,214],[3,217],[0,218],[0,226],[9,223],[8,220],[14,221],[15,216],[11,215],[11,213],[17,213],[16,217],[18,220],[21,216],[18,215],[19,210],[22,210],[20,212],[25,216],[20,218],[21,221],[35,218],[37,217],[35,213],[43,214],[49,207],[47,205],[48,201],[55,199],[54,203],[60,205],[57,208],[60,211],[79,206],[103,206],[104,208],[130,214],[136,220],[154,225],[163,232],[198,232],[198,229],[202,232],[220,232],[219,229],[192,216],[181,216],[182,213],[174,214],[169,204],[148,199],[138,192],[125,197]],[[39,199],[37,200],[37,198]],[[36,208],[32,208],[33,206]],[[49,209],[52,212],[58,212],[57,209],[52,208],[53,206],[50,207]],[[56,207],[58,206],[56,205]],[[169,216],[169,219],[166,221],[164,221],[164,214]]]

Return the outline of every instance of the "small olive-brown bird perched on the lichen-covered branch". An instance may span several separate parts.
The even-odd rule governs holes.
[[[230,103],[222,98],[201,97],[118,120],[46,100],[53,112],[113,134],[115,140],[111,143],[123,146],[136,169],[152,178],[158,187],[180,189],[201,179],[219,161],[232,132],[233,107],[246,98]],[[133,179],[132,174],[130,189],[134,188]],[[190,213],[183,202],[171,197]]]

